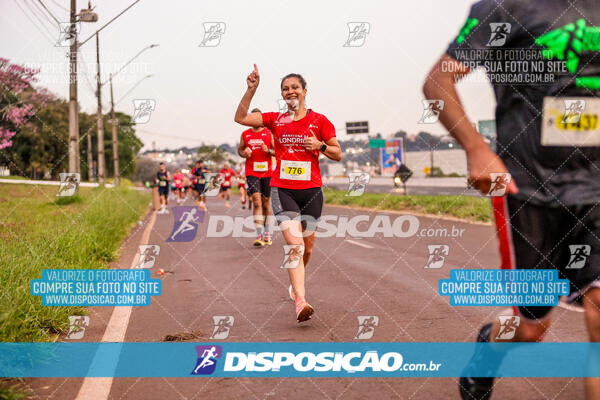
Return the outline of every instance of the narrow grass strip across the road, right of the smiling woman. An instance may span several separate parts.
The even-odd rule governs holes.
[[[490,200],[472,196],[404,196],[386,193],[364,193],[362,196],[344,196],[345,191],[323,188],[325,203],[357,206],[377,210],[412,211],[444,215],[468,221],[491,222]]]

